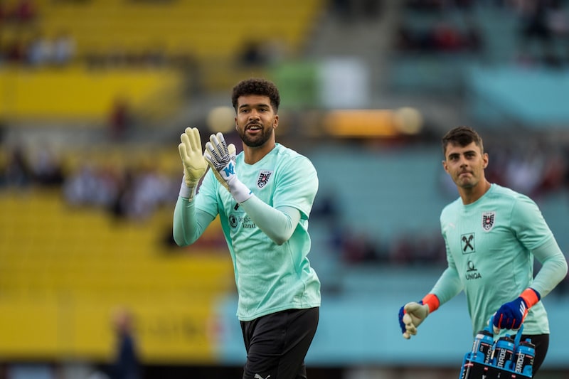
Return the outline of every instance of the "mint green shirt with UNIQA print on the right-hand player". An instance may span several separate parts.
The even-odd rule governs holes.
[[[458,198],[440,215],[448,268],[431,290],[444,304],[466,294],[472,332],[487,326],[499,307],[524,289],[546,296],[565,277],[567,262],[536,203],[492,184],[482,198],[464,205]],[[533,279],[533,257],[542,267]],[[523,333],[549,333],[541,301],[529,310]]]

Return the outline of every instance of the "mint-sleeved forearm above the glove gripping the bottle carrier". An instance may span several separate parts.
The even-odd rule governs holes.
[[[543,298],[567,275],[567,260],[553,237],[534,250],[533,255],[542,266],[530,287]]]

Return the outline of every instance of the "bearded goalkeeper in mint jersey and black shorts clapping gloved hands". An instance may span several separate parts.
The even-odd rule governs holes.
[[[184,181],[174,240],[191,245],[219,215],[247,351],[243,378],[307,378],[304,357],[320,306],[320,281],[307,259],[317,171],[305,156],[275,142],[280,95],[272,82],[243,80],[232,102],[240,154],[221,133],[211,135],[203,155],[198,129],[181,134]]]

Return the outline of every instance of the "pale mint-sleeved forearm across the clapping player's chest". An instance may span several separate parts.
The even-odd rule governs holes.
[[[277,245],[282,245],[291,237],[300,220],[300,212],[296,208],[273,208],[251,196],[240,204],[252,222]]]

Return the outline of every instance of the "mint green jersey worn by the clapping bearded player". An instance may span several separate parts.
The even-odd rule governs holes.
[[[245,164],[243,152],[235,167],[252,193],[273,207],[300,211],[297,228],[282,245],[267,237],[220,185],[212,171],[203,179],[196,209],[220,215],[238,290],[237,316],[251,321],[285,309],[320,305],[320,282],[310,266],[309,213],[318,190],[317,171],[307,157],[277,144],[261,161]]]

